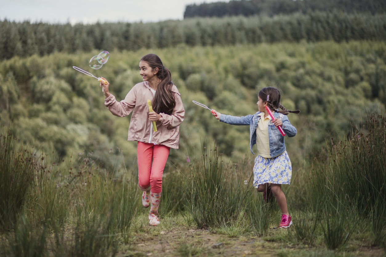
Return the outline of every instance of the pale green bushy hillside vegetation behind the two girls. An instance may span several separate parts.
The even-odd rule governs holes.
[[[278,86],[283,106],[300,109],[289,114],[298,129],[286,139],[293,163],[305,150],[319,148],[330,137],[344,139],[350,126],[367,110],[386,102],[386,44],[384,42],[318,42],[215,47],[179,45],[167,49],[112,51],[107,64],[94,71],[88,60],[97,50],[76,54],[14,57],[0,62],[0,122],[12,125],[19,138],[36,147],[54,149],[62,159],[83,156],[102,165],[136,165],[135,142],[127,142],[130,117],[113,116],[104,106],[96,79],[75,71],[90,70],[110,81],[111,92],[123,99],[141,82],[141,56],[155,53],[171,70],[186,109],[180,149],[171,160],[185,161],[187,149],[204,139],[220,142],[225,155],[237,161],[249,153],[249,128],[215,120],[196,100],[224,114],[257,111],[257,92]],[[348,124],[351,121],[351,124]],[[248,157],[250,156],[250,157]]]

